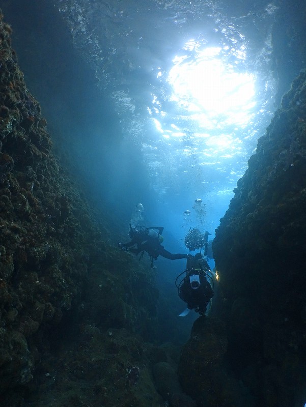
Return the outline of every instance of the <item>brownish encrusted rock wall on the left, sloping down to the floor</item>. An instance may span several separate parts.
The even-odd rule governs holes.
[[[146,390],[133,387],[138,371],[139,383],[152,388],[144,398],[159,402],[151,379],[143,380],[149,375],[143,339],[133,339],[134,332],[155,335],[153,272],[108,244],[103,218],[93,220],[65,166],[53,157],[46,120],[26,88],[10,33],[1,15],[0,403],[21,406],[31,393],[31,405],[54,405],[40,401],[52,383],[54,398],[61,398],[56,405],[87,405],[88,394],[79,391],[85,372],[95,405],[116,393],[117,376],[122,404],[115,398],[114,405],[127,405],[124,392],[130,389],[137,390],[130,395],[134,403],[147,405],[139,401]],[[59,342],[57,363],[50,350]],[[73,361],[63,361],[68,350]],[[58,373],[49,377],[54,366]]]

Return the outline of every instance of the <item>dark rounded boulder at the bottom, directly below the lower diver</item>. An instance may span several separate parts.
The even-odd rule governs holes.
[[[199,407],[253,405],[226,369],[227,348],[226,327],[218,318],[201,316],[194,322],[181,353],[178,375],[183,390]]]

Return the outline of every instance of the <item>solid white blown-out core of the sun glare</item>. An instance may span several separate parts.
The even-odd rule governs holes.
[[[226,125],[245,126],[254,107],[252,74],[235,71],[218,57],[221,48],[206,48],[196,60],[176,57],[169,74],[172,100],[185,107],[191,118],[205,127],[222,117]],[[210,126],[208,126],[210,127]]]

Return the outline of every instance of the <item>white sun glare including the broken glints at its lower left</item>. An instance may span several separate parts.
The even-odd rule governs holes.
[[[195,51],[195,56],[191,58],[186,53],[173,60],[168,76],[173,89],[171,100],[180,107],[181,118],[192,122],[190,128],[196,130],[192,138],[201,143],[199,151],[204,162],[208,157],[243,154],[242,139],[248,136],[256,105],[255,77],[240,68],[245,48],[230,53],[226,48],[200,47],[201,43],[190,40],[184,49]],[[163,121],[165,113],[155,96],[152,102],[153,107],[148,111],[163,138],[171,142],[185,136],[186,126],[169,127],[169,121]]]

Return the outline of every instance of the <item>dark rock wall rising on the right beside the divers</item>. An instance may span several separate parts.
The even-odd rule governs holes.
[[[267,407],[306,401],[306,71],[283,97],[213,242],[231,369]]]

